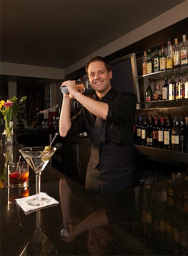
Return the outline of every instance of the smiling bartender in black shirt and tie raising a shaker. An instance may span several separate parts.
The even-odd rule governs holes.
[[[112,88],[111,67],[103,57],[91,57],[86,72],[96,98],[79,93],[75,81],[61,84],[67,86],[69,94],[64,94],[62,101],[60,135],[66,137],[87,131],[91,140],[91,156],[87,166],[86,189],[105,193],[135,187],[139,184],[132,138],[135,94],[118,93]],[[83,108],[71,119],[72,98]]]

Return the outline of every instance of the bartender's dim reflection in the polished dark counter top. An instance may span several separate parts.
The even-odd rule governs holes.
[[[119,204],[119,202],[122,196],[124,199],[124,192],[115,193],[114,196],[112,193],[110,197],[108,195],[103,197],[91,195],[84,190],[80,193],[78,189],[73,191],[65,178],[60,180],[59,191],[63,224],[64,228],[69,231],[67,235],[62,236],[62,240],[71,242],[83,232],[89,232],[87,249],[91,255],[108,255],[110,247],[114,243],[115,246],[119,246],[121,232],[117,233],[116,231],[119,230],[116,226],[117,222],[122,225],[120,229],[132,226],[132,223],[128,223],[128,225],[126,223],[127,208],[131,210],[132,220],[135,221],[135,197],[132,191],[125,192],[128,200],[123,204]],[[77,208],[80,210],[76,210]],[[118,250],[116,249],[116,251]]]

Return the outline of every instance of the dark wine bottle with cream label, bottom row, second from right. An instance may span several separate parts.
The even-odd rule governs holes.
[[[173,126],[171,129],[171,143],[172,143],[172,150],[180,149],[179,123],[176,116],[173,119]]]

